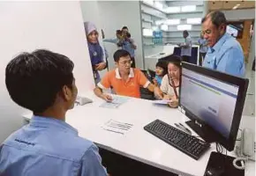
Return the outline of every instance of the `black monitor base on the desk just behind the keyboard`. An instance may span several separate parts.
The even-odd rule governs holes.
[[[216,132],[207,125],[202,125],[197,121],[185,121],[185,123],[194,130],[207,143],[214,143],[218,141]]]

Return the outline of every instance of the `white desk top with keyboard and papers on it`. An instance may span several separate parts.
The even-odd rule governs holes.
[[[103,149],[169,172],[196,176],[202,176],[205,172],[210,153],[215,150],[215,144],[212,144],[210,150],[199,160],[194,160],[143,129],[155,119],[171,125],[175,122],[187,121],[187,117],[177,109],[154,106],[149,100],[132,98],[117,109],[108,109],[99,107],[103,100],[95,97],[93,92],[88,92],[86,95],[93,99],[94,103],[75,106],[66,114],[66,122],[79,130],[79,136],[97,143]],[[31,114],[24,117],[29,120]],[[109,119],[132,123],[133,127],[124,135],[103,130],[102,125]],[[243,117],[241,128],[255,130],[254,121],[253,117]],[[234,156],[234,153],[229,152],[229,155]],[[254,164],[254,162],[246,164],[246,176],[255,175]]]

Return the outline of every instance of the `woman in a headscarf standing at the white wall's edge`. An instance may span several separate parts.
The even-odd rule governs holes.
[[[106,69],[104,53],[98,40],[99,33],[96,26],[89,21],[85,22],[84,26],[87,33],[88,49],[94,71],[94,81],[95,84],[97,84],[101,81],[99,71]]]

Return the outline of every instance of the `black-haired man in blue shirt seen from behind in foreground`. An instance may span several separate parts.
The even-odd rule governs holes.
[[[1,176],[106,176],[94,143],[65,122],[78,89],[73,62],[48,50],[23,53],[8,63],[11,99],[33,111],[30,123],[0,145]]]

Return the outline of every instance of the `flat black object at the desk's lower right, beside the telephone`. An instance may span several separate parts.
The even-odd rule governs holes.
[[[239,170],[234,167],[234,159],[212,151],[204,176],[245,176],[245,170]]]

